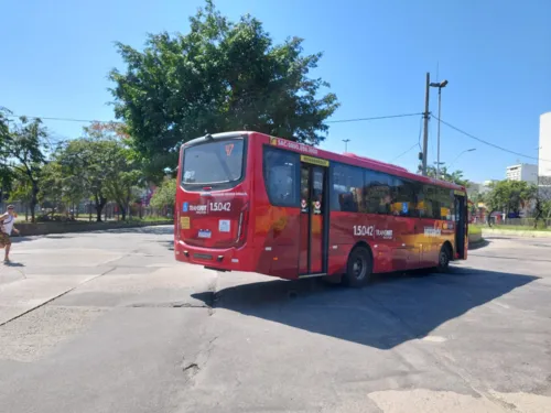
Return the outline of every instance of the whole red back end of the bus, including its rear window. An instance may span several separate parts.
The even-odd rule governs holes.
[[[218,270],[247,268],[248,143],[247,133],[223,133],[182,148],[174,222],[179,261]]]

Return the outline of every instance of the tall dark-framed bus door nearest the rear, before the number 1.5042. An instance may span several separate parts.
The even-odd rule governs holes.
[[[301,219],[299,275],[326,272],[328,161],[301,155]]]

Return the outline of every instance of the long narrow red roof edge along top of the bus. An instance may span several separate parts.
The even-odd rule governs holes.
[[[249,135],[252,139],[255,139],[255,135],[267,137],[270,139],[270,142],[274,142],[272,144],[276,144],[278,146],[282,146],[282,148],[290,150],[290,151],[293,151],[293,152],[303,153],[305,155],[318,156],[318,157],[327,159],[327,160],[334,161],[334,162],[342,162],[342,163],[346,163],[346,164],[350,164],[350,165],[355,165],[355,166],[359,166],[359,167],[366,167],[366,169],[374,170],[374,171],[386,172],[388,174],[397,175],[397,176],[409,178],[409,180],[417,181],[417,182],[422,182],[425,184],[439,185],[439,186],[447,187],[451,189],[465,191],[465,187],[462,185],[456,185],[456,184],[447,182],[447,181],[436,180],[436,178],[429,177],[429,176],[418,175],[418,174],[411,173],[407,169],[398,166],[398,165],[393,165],[393,164],[381,162],[381,161],[376,161],[374,159],[366,157],[366,156],[359,156],[359,155],[356,155],[356,154],[349,153],[349,152],[346,152],[343,154],[338,154],[335,152],[328,152],[328,151],[324,151],[324,150],[317,149],[315,146],[312,146],[312,145],[309,145],[305,143],[299,143],[295,140],[271,137],[269,134],[261,133],[261,132],[231,131],[231,132],[223,132],[223,133],[213,133],[212,135],[196,138],[192,141],[186,142],[184,145],[187,146],[190,144],[204,142],[208,139],[228,139],[228,138],[237,138],[237,137],[245,137],[245,135]]]

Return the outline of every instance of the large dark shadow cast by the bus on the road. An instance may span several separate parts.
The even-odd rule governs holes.
[[[328,286],[316,279],[274,280],[193,297],[217,308],[390,349],[537,279],[454,268],[449,274],[386,274],[361,290]]]

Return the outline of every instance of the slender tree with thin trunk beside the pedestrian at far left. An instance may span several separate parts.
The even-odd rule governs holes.
[[[8,167],[12,174],[23,174],[31,187],[29,207],[31,220],[35,221],[35,207],[41,191],[41,172],[46,163],[47,131],[40,119],[20,118],[20,123],[9,129],[3,143],[3,156],[10,160]]]

